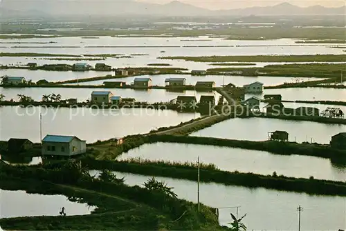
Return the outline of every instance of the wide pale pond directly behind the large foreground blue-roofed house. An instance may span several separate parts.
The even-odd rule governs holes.
[[[90,108],[0,108],[0,140],[30,139],[39,143],[42,112],[42,138],[46,134],[76,136],[86,143],[142,134],[161,127],[178,125],[198,118],[199,114],[173,110],[123,108],[97,110]]]

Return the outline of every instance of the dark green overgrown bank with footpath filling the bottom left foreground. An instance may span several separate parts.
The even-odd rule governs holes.
[[[120,182],[93,179],[78,170],[73,161],[44,167],[1,165],[1,188],[40,194],[64,194],[73,201],[97,205],[93,214],[71,217],[20,217],[1,219],[1,228],[11,230],[219,230],[215,212],[170,197],[162,192]],[[70,166],[70,167],[68,167]],[[76,165],[77,166],[77,165]],[[21,180],[19,180],[21,179]],[[181,214],[185,216],[176,220]],[[175,222],[174,222],[175,221]]]

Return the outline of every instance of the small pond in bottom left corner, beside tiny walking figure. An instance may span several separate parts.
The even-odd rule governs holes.
[[[67,216],[90,214],[94,206],[74,203],[62,195],[28,194],[25,191],[0,190],[1,218],[59,216],[62,207]]]

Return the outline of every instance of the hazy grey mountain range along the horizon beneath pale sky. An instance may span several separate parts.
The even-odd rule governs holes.
[[[278,15],[345,15],[346,6],[325,8],[311,6],[300,8],[290,3],[276,6],[251,7],[232,10],[208,10],[172,1],[167,4],[143,3],[134,0],[86,1],[86,0],[2,0],[1,17],[62,17],[62,16],[278,16]]]

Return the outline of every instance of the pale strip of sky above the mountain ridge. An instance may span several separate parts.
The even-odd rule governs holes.
[[[172,0],[136,0],[150,3],[169,3]],[[189,3],[193,6],[208,8],[210,10],[226,10],[235,8],[247,8],[252,6],[274,6],[282,2],[288,2],[295,6],[307,7],[321,5],[325,7],[340,7],[345,6],[346,1],[331,0],[331,1],[313,1],[313,0],[286,0],[286,1],[258,1],[258,0],[179,0],[183,3]]]

